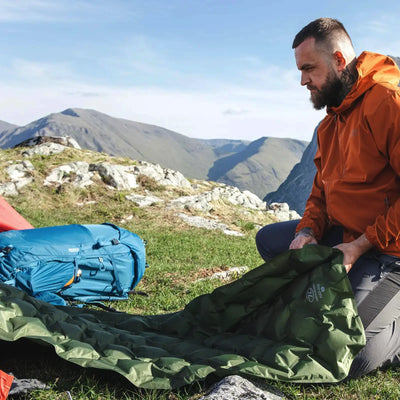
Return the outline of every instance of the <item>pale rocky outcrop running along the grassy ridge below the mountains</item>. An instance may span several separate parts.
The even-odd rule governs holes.
[[[68,147],[50,141],[23,149],[24,160],[10,163],[6,172],[10,178],[8,182],[0,184],[0,194],[16,196],[19,191],[32,183],[35,169],[30,157],[50,157],[60,154]],[[32,141],[34,144],[35,141]],[[79,153],[77,154],[79,156]],[[163,198],[155,196],[151,190],[144,190],[140,181],[143,176],[159,187],[175,188],[168,190]],[[162,168],[158,164],[145,161],[131,161],[124,165],[110,162],[73,161],[53,167],[45,176],[44,186],[72,185],[76,188],[86,188],[95,184],[103,184],[108,190],[127,191],[126,201],[131,201],[138,207],[158,205],[174,212],[185,223],[204,229],[219,229],[227,235],[242,235],[236,228],[233,230],[216,216],[209,214],[220,206],[237,207],[242,213],[259,212],[273,216],[276,220],[285,221],[299,218],[298,214],[290,210],[287,204],[274,203],[267,206],[254,193],[241,191],[237,187],[226,184],[195,181],[193,184],[180,172]],[[174,196],[184,192],[185,195]],[[247,211],[246,211],[247,210]],[[201,215],[195,215],[200,213]],[[240,230],[240,229],[239,229]]]

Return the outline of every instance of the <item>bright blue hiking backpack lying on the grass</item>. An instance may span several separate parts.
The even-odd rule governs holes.
[[[56,305],[127,299],[145,259],[143,240],[112,224],[0,233],[0,281]]]

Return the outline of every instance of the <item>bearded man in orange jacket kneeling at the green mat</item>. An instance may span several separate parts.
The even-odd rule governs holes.
[[[317,19],[295,37],[301,85],[327,115],[318,126],[317,173],[300,221],[256,237],[268,260],[309,244],[336,247],[367,344],[349,376],[400,361],[400,71],[389,57],[356,57],[344,26]]]

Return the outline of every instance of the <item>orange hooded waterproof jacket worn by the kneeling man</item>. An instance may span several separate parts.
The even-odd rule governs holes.
[[[297,230],[321,239],[329,225],[344,242],[365,233],[379,251],[400,256],[400,71],[364,52],[358,80],[318,128],[317,173]]]

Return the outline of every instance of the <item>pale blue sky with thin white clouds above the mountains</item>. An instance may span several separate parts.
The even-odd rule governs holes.
[[[400,1],[0,0],[0,120],[70,107],[197,138],[310,140],[291,44],[318,17],[400,56]]]

